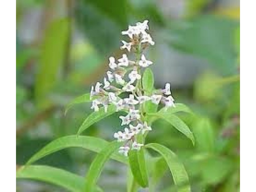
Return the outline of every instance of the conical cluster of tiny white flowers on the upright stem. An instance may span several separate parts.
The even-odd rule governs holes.
[[[118,141],[125,141],[124,146],[119,148],[119,152],[125,156],[130,149],[140,150],[143,146],[137,142],[137,134],[145,134],[152,130],[144,121],[141,110],[144,102],[151,101],[156,105],[161,102],[166,108],[175,107],[169,83],[165,84],[164,89],[155,90],[149,96],[144,95],[144,90],[141,88],[141,70],[153,64],[142,52],[149,45],[155,44],[146,30],[148,30],[148,20],[138,22],[135,26],[129,26],[127,31],[122,31],[122,35],[129,36],[131,42],[122,41],[121,49],[134,52],[136,59],[129,60],[126,54],[117,61],[114,57],[110,57],[111,70],[107,71],[103,84],[97,82],[95,87],[91,88],[92,109],[98,111],[99,105],[102,105],[107,112],[109,105],[115,105],[116,111],[127,112],[126,116],[119,116],[119,118],[122,120],[121,125],[129,125],[129,128],[126,127],[123,132],[114,133]],[[128,93],[128,97],[120,98],[121,93]]]

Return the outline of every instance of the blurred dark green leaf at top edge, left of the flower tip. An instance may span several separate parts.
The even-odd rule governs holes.
[[[79,0],[76,21],[88,41],[103,54],[120,46],[121,31],[126,30],[128,2],[126,0]]]

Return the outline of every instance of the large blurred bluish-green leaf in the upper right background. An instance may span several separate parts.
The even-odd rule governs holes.
[[[236,52],[230,34],[237,27],[234,20],[204,15],[173,25],[166,41],[177,50],[205,58],[222,75],[232,75],[236,73]]]

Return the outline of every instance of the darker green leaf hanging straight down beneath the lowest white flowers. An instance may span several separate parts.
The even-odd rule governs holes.
[[[144,149],[129,151],[129,163],[134,179],[141,187],[148,187],[148,173],[145,164]]]

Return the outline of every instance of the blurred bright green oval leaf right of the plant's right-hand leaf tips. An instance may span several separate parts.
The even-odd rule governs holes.
[[[209,119],[198,118],[193,126],[193,133],[196,139],[196,148],[200,152],[213,152],[215,137]]]

